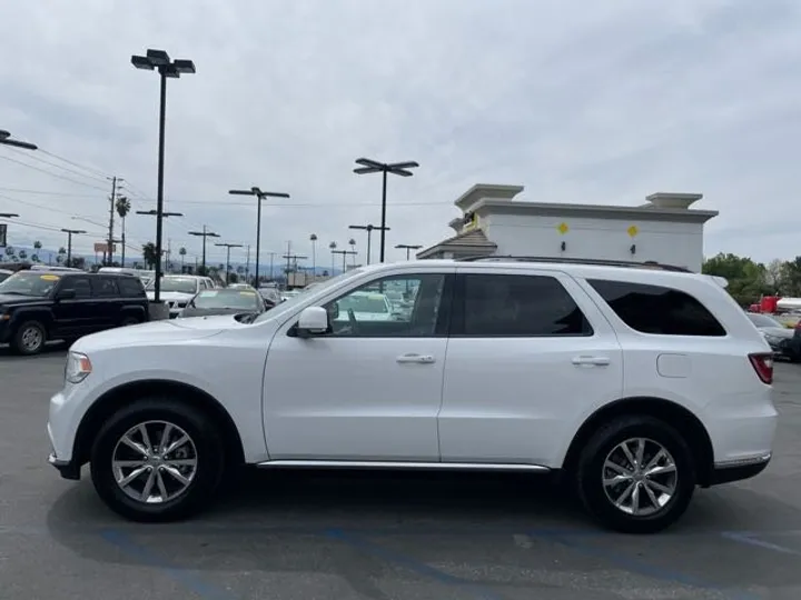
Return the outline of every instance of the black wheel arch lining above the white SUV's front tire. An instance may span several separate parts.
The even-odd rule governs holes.
[[[245,462],[241,437],[230,413],[208,392],[184,383],[166,379],[147,379],[123,383],[105,392],[86,412],[78,426],[72,462],[80,467],[89,461],[95,434],[103,421],[121,408],[146,396],[170,396],[192,407],[199,407],[215,423],[221,426],[226,457],[236,464]]]

